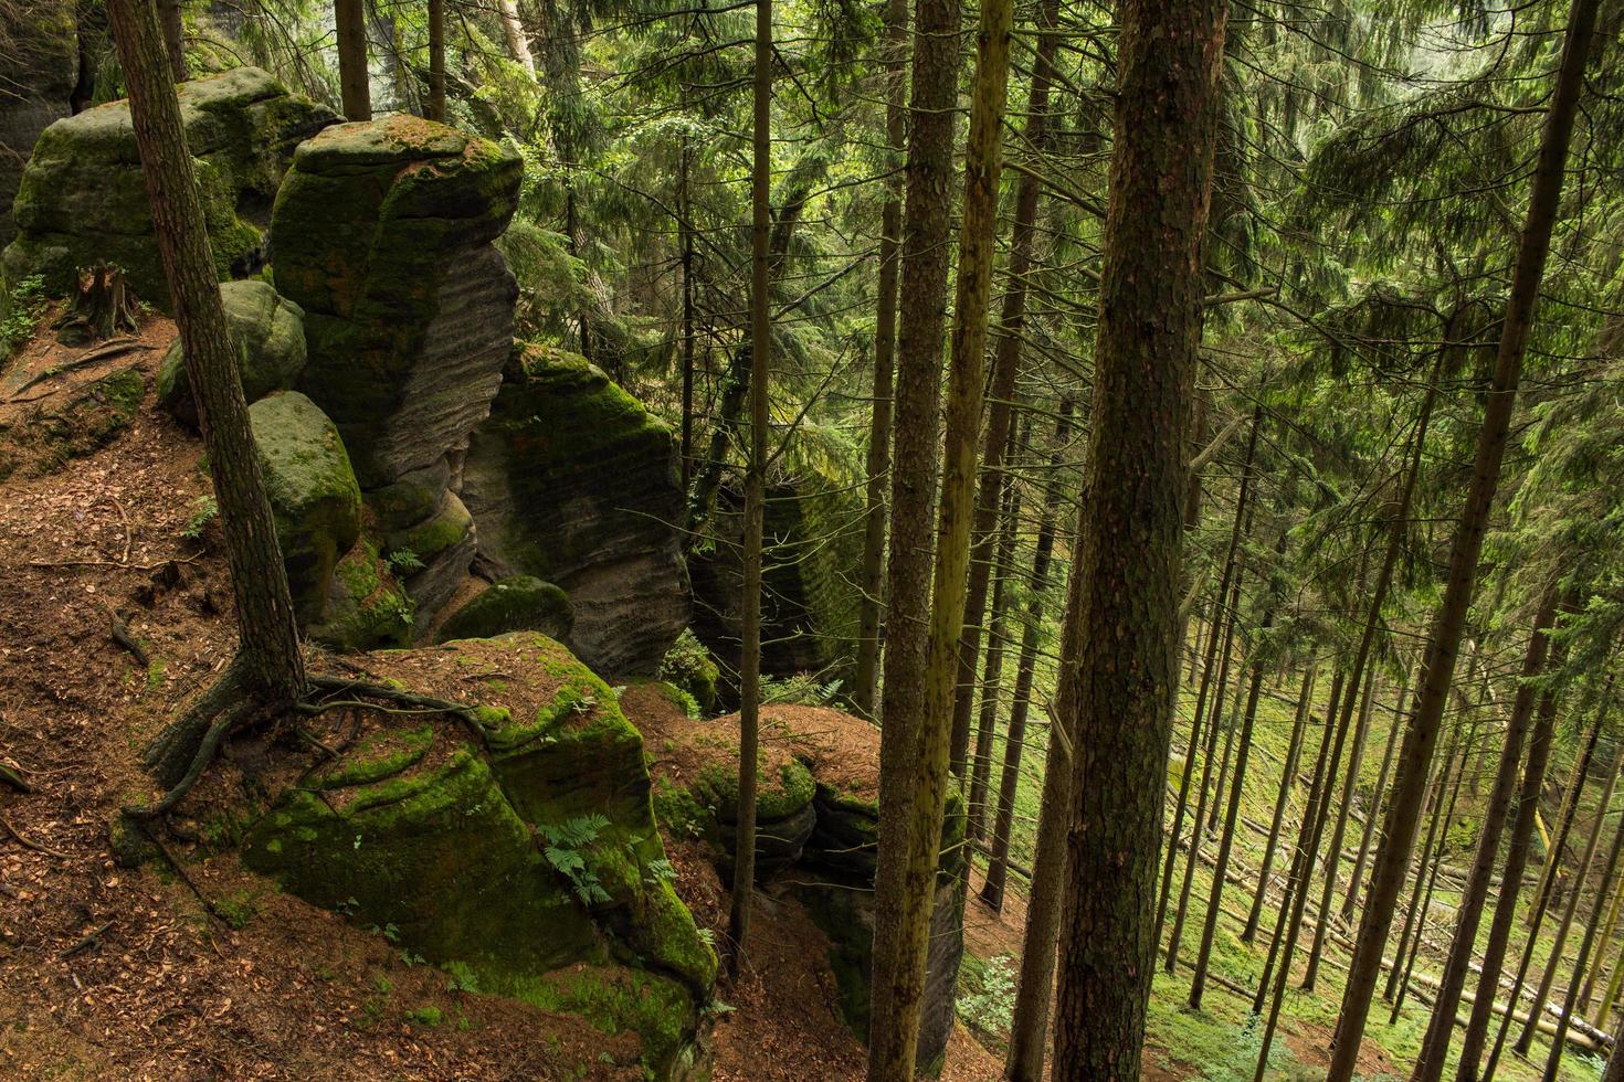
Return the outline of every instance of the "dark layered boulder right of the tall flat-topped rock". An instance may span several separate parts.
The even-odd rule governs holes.
[[[479,565],[570,595],[570,644],[614,675],[653,675],[687,623],[671,430],[578,357],[526,352],[473,436],[463,501]]]

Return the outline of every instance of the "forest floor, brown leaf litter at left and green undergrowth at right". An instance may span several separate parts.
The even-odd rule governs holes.
[[[0,762],[32,790],[0,785],[0,1077],[641,1077],[614,1066],[635,1053],[622,1056],[583,1022],[453,990],[377,931],[281,894],[231,855],[174,839],[167,860],[114,865],[107,826],[148,792],[138,748],[221,670],[234,641],[218,526],[200,514],[209,492],[200,444],[153,404],[172,333],[153,320],[140,349],[81,367],[84,350],[34,347],[23,357],[29,375],[0,381],[10,462],[0,480]],[[146,394],[127,428],[83,453],[86,425],[63,414],[67,402],[122,371],[138,371]],[[41,440],[45,430],[57,435]],[[145,660],[114,639],[115,626]],[[1289,720],[1281,702],[1265,706],[1244,788],[1254,819],[1267,819]],[[1379,756],[1379,746],[1366,756],[1372,771]],[[1041,761],[1041,748],[1028,761]],[[1018,861],[1030,860],[1036,798],[1034,779],[1023,777]],[[1237,855],[1246,873],[1255,848],[1247,837]],[[697,918],[719,928],[726,895],[708,860],[684,840],[671,858]],[[1208,887],[1199,866],[1197,913]],[[1249,889],[1237,889],[1224,910],[1246,902]],[[716,1027],[716,1077],[859,1079],[862,1050],[835,1014],[822,933],[770,892],[755,920],[749,973],[724,993],[734,1011]],[[974,899],[966,908],[965,1020],[948,1050],[950,1082],[999,1077],[1021,920],[1018,889],[1002,913]],[[1229,923],[1220,925],[1213,972],[1247,985],[1260,957]],[[1186,930],[1192,955],[1199,920]],[[1445,938],[1442,921],[1427,949]],[[1272,1077],[1322,1076],[1343,960],[1333,942],[1319,990],[1288,998]],[[1247,1004],[1212,986],[1192,1014],[1186,993],[1184,968],[1158,973],[1145,1077],[1249,1079],[1257,1041]],[[1415,1001],[1393,1027],[1384,1011],[1366,1077],[1402,1074],[1423,1025]],[[1590,1071],[1577,1056],[1564,1064],[1564,1077]],[[1501,1077],[1536,1072],[1509,1058]]]

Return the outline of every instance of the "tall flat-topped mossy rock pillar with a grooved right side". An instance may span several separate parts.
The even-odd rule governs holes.
[[[300,389],[344,435],[365,490],[458,453],[513,342],[516,287],[492,242],[523,165],[414,117],[326,128],[276,196],[276,287],[305,311]]]

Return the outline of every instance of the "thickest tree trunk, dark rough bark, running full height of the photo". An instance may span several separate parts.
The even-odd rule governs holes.
[[[1223,0],[1117,6],[1054,1076],[1140,1077],[1179,680],[1179,558]]]

